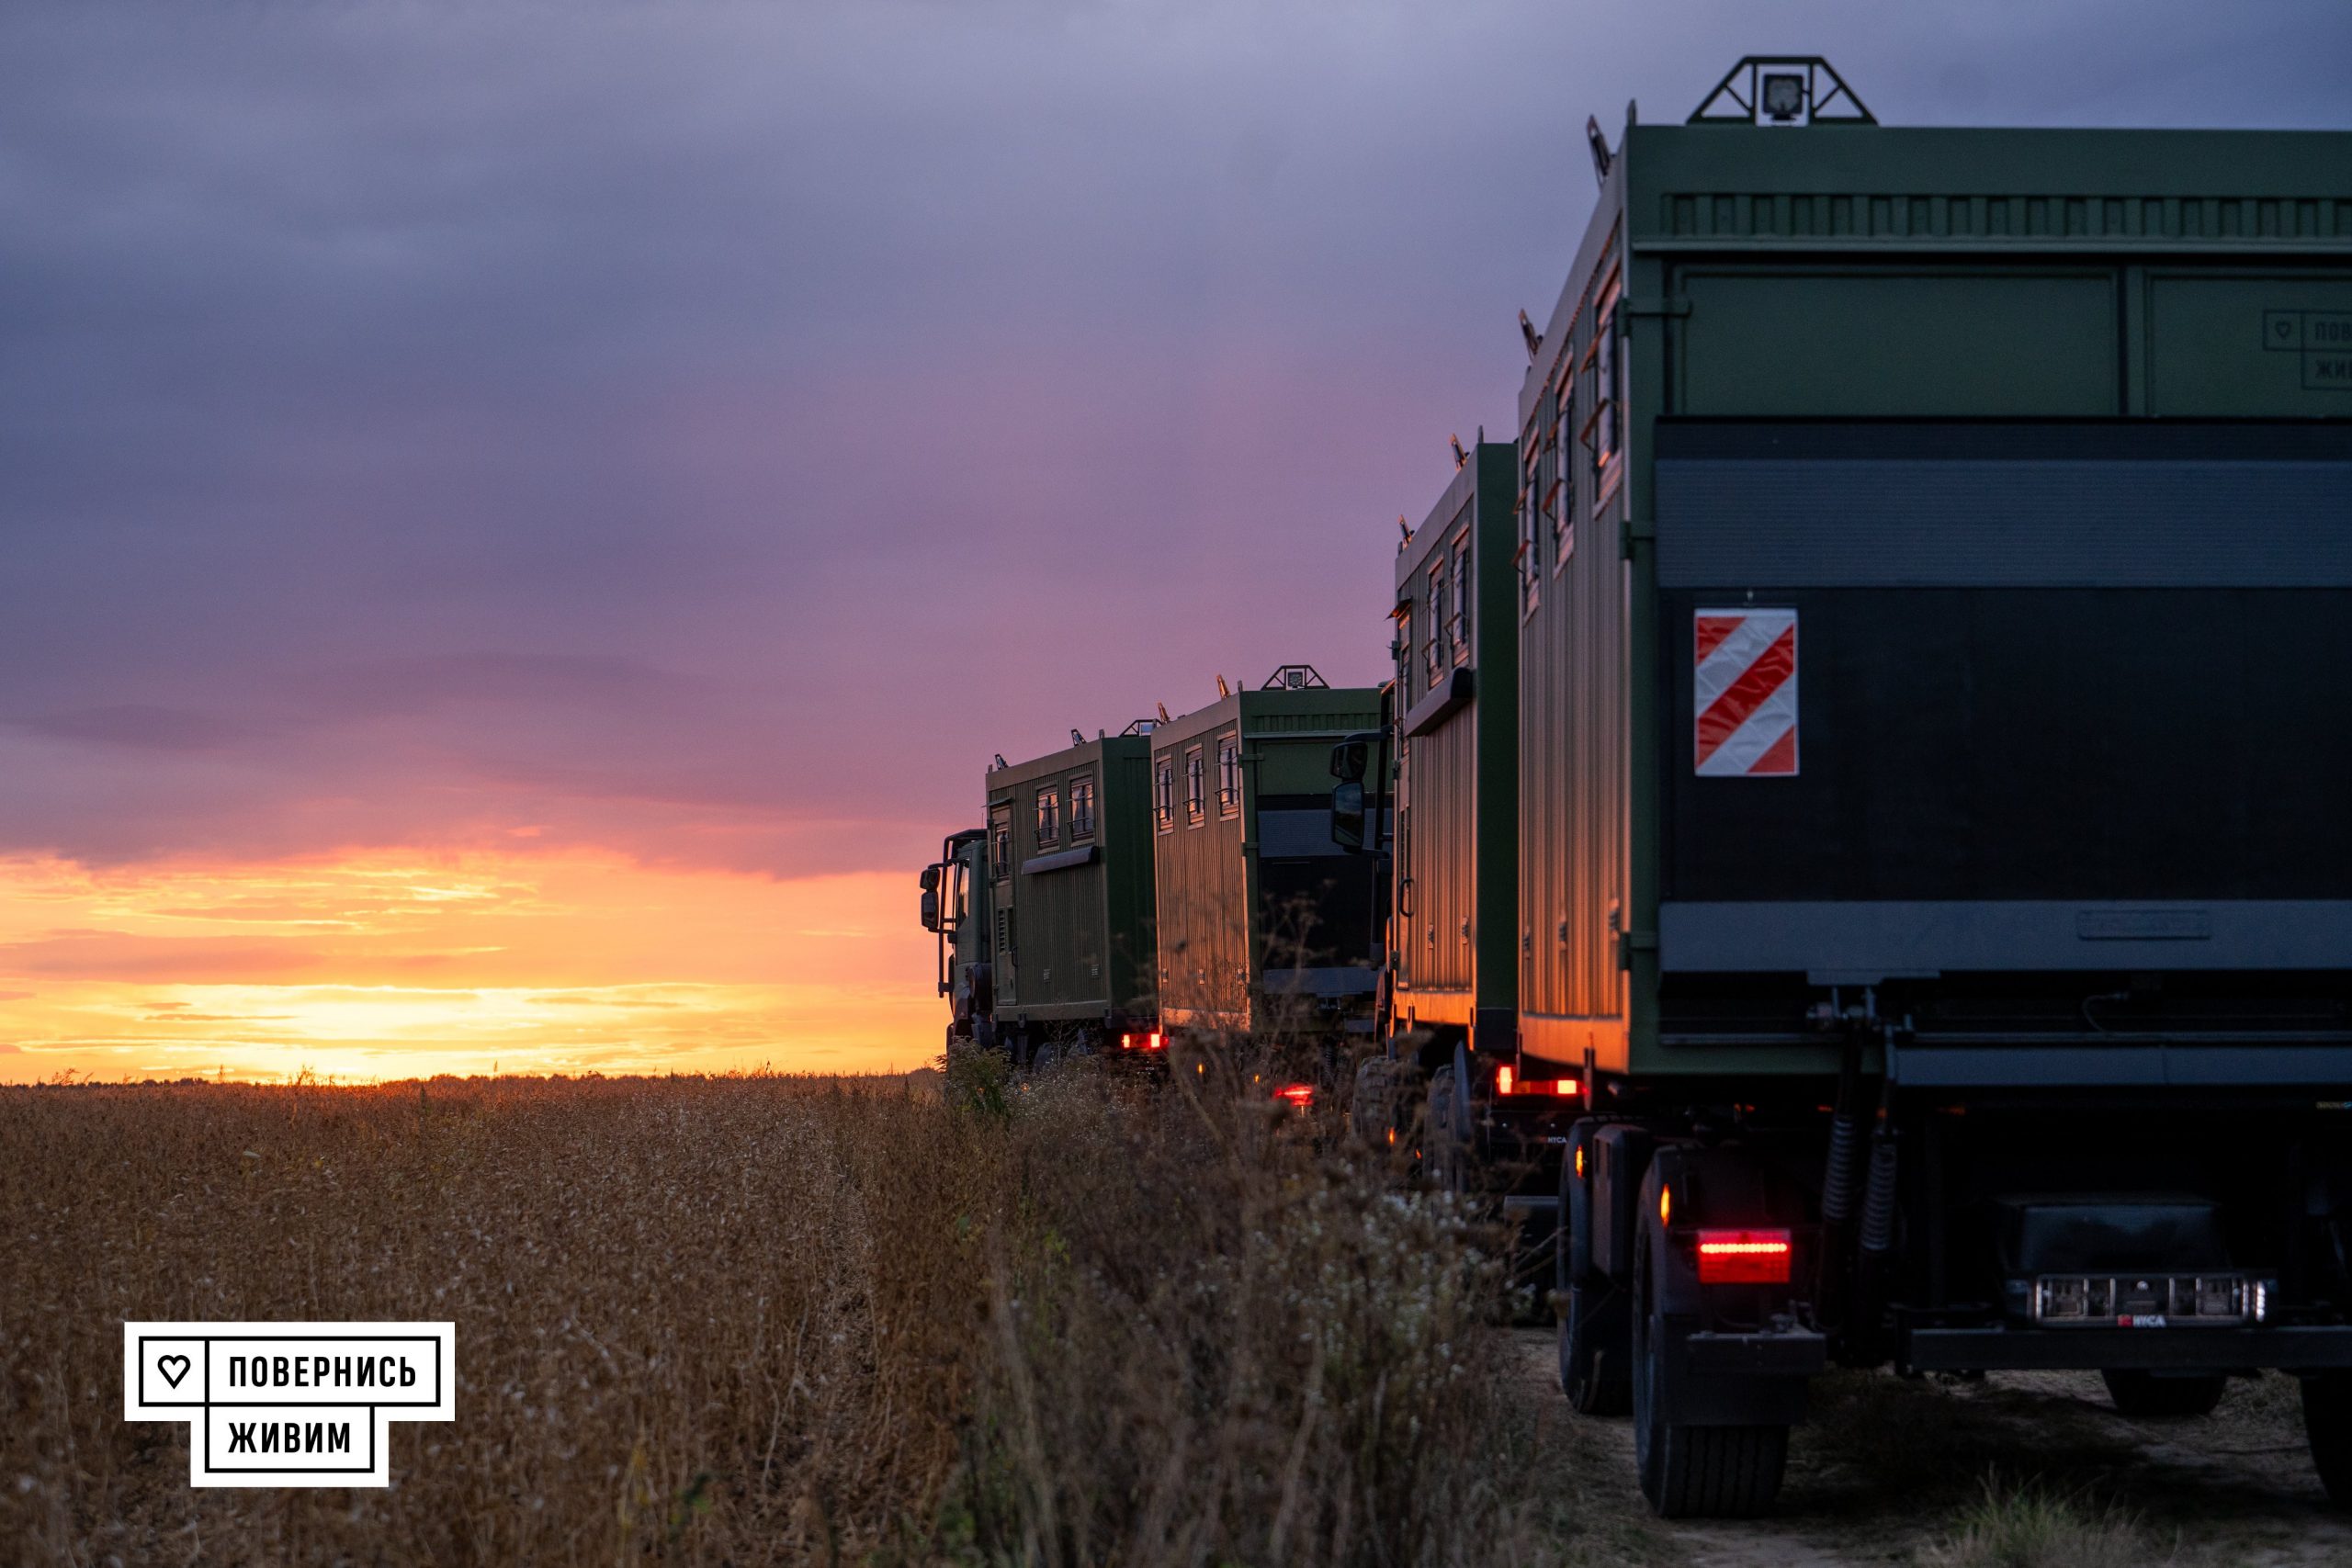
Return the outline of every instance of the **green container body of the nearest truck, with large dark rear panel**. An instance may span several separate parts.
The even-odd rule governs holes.
[[[2274,922],[2352,893],[2312,792],[2345,733],[2286,712],[2352,621],[2347,158],[2333,134],[1628,129],[1519,397],[1522,449],[1564,477],[1524,524],[1529,1053],[1828,1072],[1835,1046],[1710,1023],[1717,987],[1679,976],[2058,961],[1945,961],[1971,900],[2114,905],[2084,971],[2274,969]],[[1698,616],[1750,604],[1795,611],[1802,764],[1703,776]],[[2070,698],[2034,708],[2039,672]],[[2056,755],[2051,722],[2077,726]],[[2110,818],[2183,769],[2194,790]],[[1999,851],[1929,865],[1964,837]],[[2105,863],[2056,875],[2063,839]],[[2180,872],[2185,839],[2216,875]],[[2126,933],[2178,898],[2298,907],[2213,912],[2197,950]],[[1731,933],[1726,905],[1823,900],[1912,938]]]

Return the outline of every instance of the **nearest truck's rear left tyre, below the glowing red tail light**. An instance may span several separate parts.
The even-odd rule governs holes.
[[[1642,1495],[1661,1519],[1750,1519],[1780,1495],[1788,1427],[1675,1427],[1658,1408],[1665,1314],[1651,1279],[1663,1251],[1658,1222],[1635,1237],[1632,1258],[1632,1443]]]

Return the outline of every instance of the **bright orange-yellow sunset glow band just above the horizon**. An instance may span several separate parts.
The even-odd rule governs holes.
[[[0,858],[0,1081],[903,1072],[946,1018],[913,886],[600,853]]]

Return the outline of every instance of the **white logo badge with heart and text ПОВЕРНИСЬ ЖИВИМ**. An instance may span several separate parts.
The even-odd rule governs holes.
[[[188,1422],[188,1486],[388,1486],[456,1415],[456,1324],[122,1324],[122,1420]]]

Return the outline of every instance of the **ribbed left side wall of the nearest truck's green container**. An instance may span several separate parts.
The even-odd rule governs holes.
[[[1625,1032],[1625,562],[1618,252],[1578,261],[1519,430],[1519,1041],[1559,1063]],[[1602,324],[1597,329],[1597,324]]]

